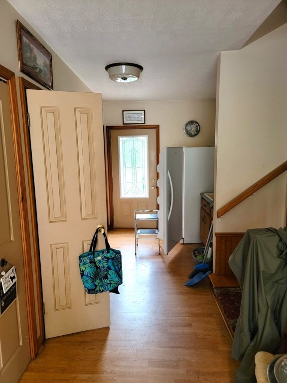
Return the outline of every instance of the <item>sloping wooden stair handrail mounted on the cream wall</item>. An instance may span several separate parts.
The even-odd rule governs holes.
[[[220,207],[220,209],[217,210],[217,214],[216,214],[217,218],[220,218],[222,215],[226,214],[229,210],[231,210],[233,207],[238,205],[244,199],[248,198],[250,195],[254,194],[259,189],[263,188],[265,185],[267,185],[268,183],[273,181],[276,177],[280,176],[282,173],[286,171],[287,171],[287,161],[284,162],[282,165],[278,166],[272,172],[268,173],[265,177],[257,181],[250,188],[238,194],[237,197],[231,199],[231,201],[226,203],[224,206]]]

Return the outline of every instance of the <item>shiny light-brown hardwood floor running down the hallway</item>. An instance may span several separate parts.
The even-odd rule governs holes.
[[[208,278],[185,287],[196,244],[158,254],[157,241],[108,232],[121,249],[124,283],[111,326],[48,339],[20,383],[232,383],[238,362]]]

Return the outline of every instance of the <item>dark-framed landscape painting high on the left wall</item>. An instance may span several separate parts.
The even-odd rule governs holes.
[[[17,42],[20,71],[53,89],[52,55],[19,20]]]

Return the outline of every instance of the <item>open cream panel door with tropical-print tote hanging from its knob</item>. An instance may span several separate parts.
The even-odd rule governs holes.
[[[109,326],[109,292],[85,293],[78,264],[107,228],[101,94],[27,90],[27,102],[46,338]]]

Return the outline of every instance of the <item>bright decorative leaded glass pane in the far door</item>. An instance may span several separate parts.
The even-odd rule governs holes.
[[[148,198],[148,136],[119,136],[120,197]]]

